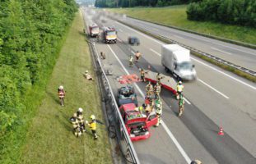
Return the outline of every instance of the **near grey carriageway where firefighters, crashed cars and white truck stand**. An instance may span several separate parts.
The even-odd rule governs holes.
[[[105,69],[114,71],[109,76],[116,93],[121,86],[120,75],[138,73],[138,68],[151,66],[153,71],[165,74],[161,66],[161,41],[133,30],[119,22],[94,20],[97,16],[84,12],[86,24],[98,22],[114,26],[118,31],[116,44],[95,43],[98,52],[105,52]],[[130,46],[128,36],[137,36],[140,46]],[[91,39],[93,41],[93,39]],[[128,67],[128,56],[142,52],[142,60]],[[203,163],[256,163],[256,84],[223,71],[216,66],[192,57],[198,80],[184,84],[187,99],[184,116],[177,117],[178,107],[169,91],[162,90],[163,122],[151,128],[151,138],[134,142],[141,163],[189,163],[198,158]],[[134,84],[143,102],[146,84]],[[225,135],[217,135],[219,126]]]

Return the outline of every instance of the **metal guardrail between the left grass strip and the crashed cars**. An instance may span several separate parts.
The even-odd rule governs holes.
[[[119,107],[116,103],[116,100],[114,98],[114,93],[110,87],[109,80],[107,78],[107,75],[105,74],[105,70],[100,62],[99,54],[95,48],[95,43],[91,43],[91,49],[95,56],[96,65],[100,68],[100,79],[103,82],[103,86],[105,89],[105,93],[107,95],[108,101],[106,103],[109,104],[111,110],[109,111],[109,114],[112,116],[109,121],[110,125],[109,127],[114,127],[115,132],[118,134],[115,134],[116,137],[119,140],[119,146],[121,147],[121,151],[128,163],[133,164],[140,164],[139,159],[137,157],[137,153],[135,149],[133,148],[133,143],[129,137],[128,131],[126,130],[126,127],[123,122],[123,117],[121,116],[121,113],[119,112]]]

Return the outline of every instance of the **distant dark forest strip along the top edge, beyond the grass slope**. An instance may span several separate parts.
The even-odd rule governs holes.
[[[95,7],[165,7],[201,0],[96,0]]]

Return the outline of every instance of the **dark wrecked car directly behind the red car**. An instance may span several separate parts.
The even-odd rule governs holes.
[[[123,104],[134,103],[137,107],[137,94],[132,85],[128,84],[118,90],[119,107]]]

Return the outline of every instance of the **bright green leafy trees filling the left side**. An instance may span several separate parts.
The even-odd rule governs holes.
[[[24,95],[54,65],[76,11],[74,0],[0,1],[0,138],[24,119]]]

